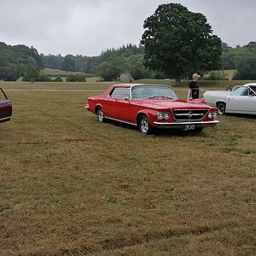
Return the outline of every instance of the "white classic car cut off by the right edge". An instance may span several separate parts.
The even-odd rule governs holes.
[[[256,114],[256,83],[237,85],[231,91],[207,90],[203,96],[219,114]]]

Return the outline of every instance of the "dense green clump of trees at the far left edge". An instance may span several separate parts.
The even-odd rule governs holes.
[[[0,79],[15,81],[26,73],[29,65],[35,65],[38,71],[44,67],[43,59],[38,55],[37,49],[0,42]]]

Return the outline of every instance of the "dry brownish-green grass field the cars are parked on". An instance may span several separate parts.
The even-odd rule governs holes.
[[[84,110],[108,84],[0,83],[0,255],[255,255],[256,119],[143,136]]]

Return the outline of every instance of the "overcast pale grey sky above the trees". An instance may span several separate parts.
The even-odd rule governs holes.
[[[139,44],[143,21],[162,3],[181,3],[207,17],[232,47],[256,41],[255,0],[0,0],[0,42],[44,55],[100,55]]]

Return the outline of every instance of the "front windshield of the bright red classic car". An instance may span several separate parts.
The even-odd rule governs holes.
[[[135,85],[131,88],[131,99],[150,99],[158,97],[177,99],[172,88],[167,85]]]

